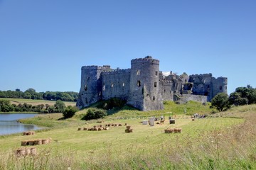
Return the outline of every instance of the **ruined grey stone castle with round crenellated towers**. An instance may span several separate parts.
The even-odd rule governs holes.
[[[159,72],[159,60],[147,56],[132,60],[131,69],[83,66],[77,106],[121,98],[141,111],[154,111],[164,109],[163,101],[210,101],[218,93],[227,93],[227,85],[227,78],[215,79],[212,74]]]

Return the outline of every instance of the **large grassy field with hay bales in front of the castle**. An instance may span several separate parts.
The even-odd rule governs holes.
[[[255,105],[231,108],[225,113],[215,113],[212,118],[208,116],[195,121],[183,115],[183,108],[198,113],[208,112],[207,108],[195,106],[196,103],[172,105],[166,103],[166,110],[161,112],[122,109],[102,123],[127,123],[132,125],[132,133],[125,133],[124,126],[110,127],[105,131],[78,131],[78,128],[100,125],[96,120],[79,120],[85,111],[68,120],[58,120],[61,114],[38,115],[24,120],[26,123],[45,124],[50,129],[31,136],[1,136],[0,169],[256,168]],[[164,125],[150,127],[140,123],[144,119],[142,116],[161,115],[166,111],[175,111],[176,124],[165,122]],[[132,116],[128,115],[129,112]],[[164,133],[164,129],[176,127],[182,128],[181,134]],[[14,149],[21,147],[21,140],[46,137],[51,137],[53,142],[36,146],[36,157],[17,158],[14,155]]]

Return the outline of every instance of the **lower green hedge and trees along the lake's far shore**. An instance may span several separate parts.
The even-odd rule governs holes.
[[[37,112],[37,113],[63,113],[65,110],[65,103],[63,101],[56,101],[54,106],[48,104],[40,104],[32,106],[27,103],[11,104],[8,100],[0,100],[0,112]]]

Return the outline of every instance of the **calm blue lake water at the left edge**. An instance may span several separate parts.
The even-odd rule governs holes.
[[[17,123],[18,119],[33,118],[35,115],[36,114],[0,114],[0,135],[40,129],[36,125]]]

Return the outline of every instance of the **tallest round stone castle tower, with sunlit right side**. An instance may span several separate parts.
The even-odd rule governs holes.
[[[159,89],[159,60],[152,57],[131,61],[128,104],[142,111],[164,109]]]

